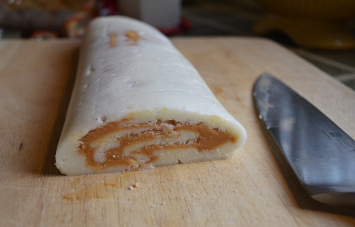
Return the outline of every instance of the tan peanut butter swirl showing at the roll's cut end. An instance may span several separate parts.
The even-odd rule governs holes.
[[[176,148],[194,147],[199,152],[211,152],[218,146],[226,142],[235,142],[237,138],[228,132],[212,129],[203,123],[190,124],[181,123],[175,120],[147,123],[130,123],[130,119],[123,119],[118,122],[109,122],[106,125],[91,130],[84,137],[80,139],[78,152],[85,156],[86,165],[94,167],[97,170],[103,170],[115,166],[129,166],[133,167],[137,162],[137,155],[144,156],[147,161],[142,165],[147,165],[154,162],[159,157],[157,153],[165,150],[172,150]],[[131,133],[124,133],[124,131]],[[139,132],[134,132],[134,131]],[[141,131],[140,131],[141,130]],[[159,139],[160,141],[169,141],[181,137],[179,132],[192,132],[196,135],[191,140],[178,142],[157,142],[154,144],[143,145],[137,149],[131,150],[129,155],[124,155],[125,150],[134,144],[151,142]],[[119,135],[119,132],[123,132]],[[95,160],[95,152],[97,152],[97,143],[102,142],[106,137],[115,135],[114,142],[119,144],[114,147],[109,147],[104,151],[106,160],[98,162]],[[176,140],[175,140],[176,141]],[[126,151],[127,153],[127,151]],[[138,169],[140,169],[138,167]]]

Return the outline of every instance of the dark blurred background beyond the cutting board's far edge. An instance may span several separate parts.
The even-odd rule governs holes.
[[[355,0],[0,0],[0,39],[81,39],[109,15],[169,37],[269,38],[355,90]]]

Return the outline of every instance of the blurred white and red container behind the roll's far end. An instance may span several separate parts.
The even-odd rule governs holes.
[[[118,0],[120,14],[139,19],[156,28],[180,25],[181,0]]]

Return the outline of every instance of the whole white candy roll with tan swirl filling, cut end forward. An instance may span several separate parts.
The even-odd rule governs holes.
[[[234,140],[210,149],[212,137],[201,139],[205,129],[213,131],[215,138],[226,134]],[[225,159],[246,138],[243,126],[157,29],[119,16],[91,22],[56,153],[62,173]],[[84,155],[83,150],[91,154]]]

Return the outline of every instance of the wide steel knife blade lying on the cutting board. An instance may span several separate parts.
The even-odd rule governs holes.
[[[355,141],[267,73],[256,80],[253,98],[259,118],[309,195],[355,208]]]

